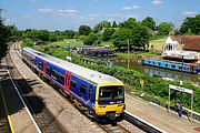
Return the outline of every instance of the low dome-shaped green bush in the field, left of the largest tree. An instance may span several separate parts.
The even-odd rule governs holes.
[[[96,33],[90,33],[84,40],[83,43],[87,45],[96,45],[99,44],[101,41],[98,39]]]

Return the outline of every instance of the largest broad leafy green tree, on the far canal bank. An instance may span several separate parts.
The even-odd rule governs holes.
[[[149,45],[149,37],[148,28],[130,18],[120,23],[120,29],[113,34],[113,44],[118,49],[127,50],[129,45],[130,50],[136,48],[146,50],[146,47]]]

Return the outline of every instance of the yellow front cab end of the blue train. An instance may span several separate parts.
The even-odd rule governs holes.
[[[98,119],[121,121],[124,108],[124,89],[122,83],[97,85],[96,114]]]

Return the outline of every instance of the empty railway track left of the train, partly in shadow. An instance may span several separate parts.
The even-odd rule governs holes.
[[[19,50],[17,48],[17,43],[14,43],[16,52]],[[19,53],[18,53],[19,55]],[[20,58],[20,55],[19,55]],[[39,125],[42,132],[51,132],[51,133],[66,133],[67,130],[62,127],[61,123],[59,123],[53,116],[53,114],[46,108],[46,104],[37,94],[33,93],[32,89],[29,86],[28,82],[22,78],[19,71],[16,69],[14,63],[12,62],[10,54],[7,57],[9,68],[12,68],[10,71],[10,75],[13,76],[13,82],[16,86],[19,89],[23,100],[26,101],[31,114]],[[21,79],[21,80],[17,80]]]

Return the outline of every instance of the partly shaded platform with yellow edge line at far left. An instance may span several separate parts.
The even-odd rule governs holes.
[[[0,63],[0,108],[4,113],[0,113],[0,117],[8,120],[8,127],[11,133],[38,133],[32,119],[30,117],[27,108],[20,100],[16,86],[8,74],[8,65]]]

